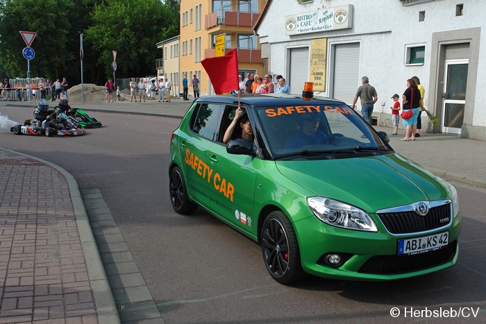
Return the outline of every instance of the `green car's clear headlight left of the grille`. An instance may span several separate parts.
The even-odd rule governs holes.
[[[362,210],[326,197],[309,197],[307,204],[315,216],[326,224],[350,230],[378,232],[371,217]]]

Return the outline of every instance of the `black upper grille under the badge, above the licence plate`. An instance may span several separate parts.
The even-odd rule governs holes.
[[[430,208],[426,216],[412,210],[378,213],[377,216],[390,234],[425,232],[449,225],[452,219],[451,203]]]

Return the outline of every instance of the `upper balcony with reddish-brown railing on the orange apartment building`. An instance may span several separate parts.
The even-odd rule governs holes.
[[[217,26],[251,27],[258,17],[260,14],[255,12],[217,10],[204,17],[204,28],[208,30]]]

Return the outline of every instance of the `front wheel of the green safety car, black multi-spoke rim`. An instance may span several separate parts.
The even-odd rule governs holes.
[[[263,261],[271,277],[280,284],[292,284],[303,279],[299,244],[284,212],[268,214],[262,226]]]

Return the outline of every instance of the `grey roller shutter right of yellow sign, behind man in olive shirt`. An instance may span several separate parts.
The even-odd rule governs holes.
[[[360,83],[360,43],[334,48],[333,98],[351,105]]]

